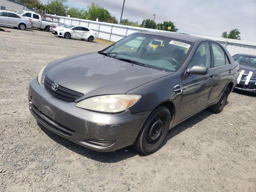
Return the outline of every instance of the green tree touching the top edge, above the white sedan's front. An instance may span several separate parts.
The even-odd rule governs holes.
[[[46,6],[48,13],[66,16],[66,11],[68,10],[68,6],[66,5],[67,1],[68,0],[48,0]]]

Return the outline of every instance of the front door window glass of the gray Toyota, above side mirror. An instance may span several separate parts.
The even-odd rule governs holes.
[[[209,43],[201,44],[191,61],[190,66],[201,65],[210,68],[211,67],[211,51]]]

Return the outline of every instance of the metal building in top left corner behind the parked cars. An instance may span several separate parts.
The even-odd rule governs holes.
[[[13,0],[0,0],[0,9],[1,10],[9,10],[9,11],[18,11],[18,10],[28,10],[34,11],[31,8],[28,8],[26,5],[22,3],[15,2]]]

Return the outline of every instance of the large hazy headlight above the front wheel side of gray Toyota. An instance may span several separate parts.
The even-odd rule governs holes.
[[[140,98],[140,95],[102,95],[82,100],[76,104],[76,107],[98,112],[117,113],[134,105]]]

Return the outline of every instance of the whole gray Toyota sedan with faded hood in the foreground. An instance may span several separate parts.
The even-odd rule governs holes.
[[[210,108],[219,113],[239,64],[218,42],[138,32],[94,53],[49,63],[30,83],[30,112],[52,132],[109,152],[158,150],[168,130]]]

